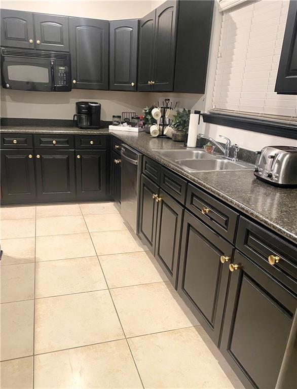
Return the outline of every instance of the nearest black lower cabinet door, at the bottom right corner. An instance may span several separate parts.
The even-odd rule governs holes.
[[[235,253],[220,351],[246,388],[276,386],[297,299]]]

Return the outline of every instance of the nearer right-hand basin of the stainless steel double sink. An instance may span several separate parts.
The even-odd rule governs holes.
[[[211,159],[211,160],[178,160],[179,165],[190,172],[197,171],[215,171],[215,170],[246,170],[246,166],[242,166],[236,162],[226,161],[223,159]]]

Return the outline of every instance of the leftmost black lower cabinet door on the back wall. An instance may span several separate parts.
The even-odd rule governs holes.
[[[35,200],[33,150],[1,150],[2,204]]]

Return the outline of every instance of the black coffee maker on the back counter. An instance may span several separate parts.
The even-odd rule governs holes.
[[[77,101],[73,124],[81,129],[100,128],[101,104],[95,101]]]

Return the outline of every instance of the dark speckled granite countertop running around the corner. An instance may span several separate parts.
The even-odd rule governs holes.
[[[2,127],[2,132],[103,135],[108,134],[108,129]],[[112,134],[297,244],[297,189],[277,188],[266,184],[256,179],[252,171],[189,173],[182,167],[160,157],[154,151],[156,149],[180,149],[183,148],[181,143],[173,142],[168,138],[152,138],[144,132],[113,131]]]

